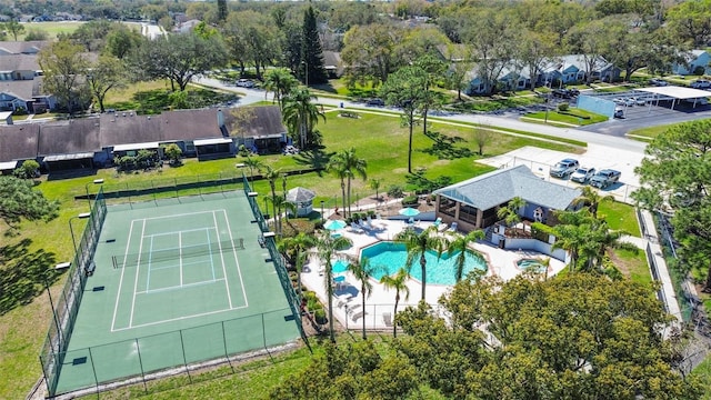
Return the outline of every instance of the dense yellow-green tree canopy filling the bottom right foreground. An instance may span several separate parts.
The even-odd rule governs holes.
[[[695,399],[659,330],[671,322],[651,288],[577,273],[554,280],[470,277],[440,303],[408,309],[395,346],[419,378],[454,399]],[[480,330],[480,327],[485,329]]]

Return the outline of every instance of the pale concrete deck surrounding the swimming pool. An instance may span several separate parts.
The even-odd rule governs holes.
[[[432,222],[421,221],[418,228],[427,229],[431,224]],[[338,233],[350,239],[353,246],[347,250],[337,252],[337,258],[347,256],[357,258],[362,248],[379,241],[393,240],[399,232],[407,228],[407,224],[401,220],[373,220],[371,226],[371,229],[365,229],[362,232],[356,232],[350,227],[339,230]],[[535,251],[503,250],[482,241],[475,242],[470,247],[479,251],[487,259],[489,264],[487,276],[495,274],[504,281],[522,273],[522,270],[517,267],[517,261],[520,259],[548,258],[548,256]],[[419,268],[419,266],[414,266],[413,268]],[[549,274],[553,276],[563,268],[565,268],[565,266],[562,261],[551,259]],[[344,282],[339,283],[333,292],[334,318],[338,319],[343,327],[350,329],[361,327],[363,318],[365,319],[367,329],[392,329],[392,326],[388,323],[391,320],[388,316],[392,316],[395,292],[393,290],[387,290],[377,280],[371,279],[372,291],[365,299],[365,310],[363,312],[360,282],[350,272],[344,273]],[[301,273],[301,280],[307,288],[313,290],[319,299],[328,306],[328,294],[323,281],[323,266],[316,253],[310,254],[309,263]],[[409,299],[405,299],[404,293],[400,293],[399,311],[403,310],[407,306],[417,306],[421,298],[422,286],[419,281],[410,279],[408,281],[408,288],[410,290]],[[428,283],[425,289],[427,302],[432,306],[438,304],[439,298],[450,289],[451,286]]]

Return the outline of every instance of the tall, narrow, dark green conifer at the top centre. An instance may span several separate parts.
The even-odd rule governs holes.
[[[303,63],[303,67],[299,68],[299,76],[303,78],[307,83],[326,83],[328,82],[328,76],[326,74],[326,68],[323,68],[321,38],[319,38],[316,12],[311,4],[309,4],[309,8],[303,12],[303,24],[301,29],[303,31],[303,39],[301,41],[301,63]]]

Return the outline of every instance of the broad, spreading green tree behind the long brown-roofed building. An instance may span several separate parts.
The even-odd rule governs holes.
[[[180,91],[197,74],[227,63],[227,48],[220,37],[200,38],[194,33],[170,34],[166,40],[146,40],[129,58],[143,79],[168,79]]]

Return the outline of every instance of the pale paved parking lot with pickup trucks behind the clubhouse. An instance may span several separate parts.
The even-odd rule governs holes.
[[[581,187],[565,179],[552,178],[549,172],[558,161],[572,158],[580,161],[582,167],[593,167],[597,170],[613,169],[621,172],[620,181],[609,188],[601,190],[602,194],[612,194],[618,201],[632,203],[630,194],[639,187],[639,179],[634,174],[634,168],[642,162],[643,154],[611,149],[597,144],[589,144],[584,154],[572,154],[562,151],[540,149],[535,147],[523,147],[505,154],[480,160],[480,162],[497,167],[508,168],[514,166],[527,166],[541,179],[572,188]]]

